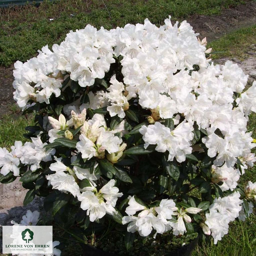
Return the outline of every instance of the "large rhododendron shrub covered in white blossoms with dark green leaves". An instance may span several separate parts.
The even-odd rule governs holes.
[[[0,149],[1,182],[20,182],[80,242],[119,230],[136,236],[197,232],[214,243],[245,220],[256,185],[247,132],[256,82],[186,22],[70,31],[60,45],[15,63],[14,99],[35,113],[31,139]],[[208,58],[206,58],[206,56]],[[79,229],[78,229],[79,228]]]

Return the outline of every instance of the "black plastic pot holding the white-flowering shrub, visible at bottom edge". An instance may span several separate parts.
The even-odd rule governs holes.
[[[191,243],[183,247],[180,247],[175,251],[170,251],[169,253],[166,253],[165,256],[191,256],[193,250],[197,245],[197,242],[198,242],[198,237],[194,239]],[[84,256],[119,256],[111,252],[104,252],[88,244],[83,245],[83,255]],[[137,255],[137,256],[140,256],[140,255]]]

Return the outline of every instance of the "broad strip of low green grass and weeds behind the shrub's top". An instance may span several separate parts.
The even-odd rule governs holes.
[[[111,29],[127,23],[143,23],[149,18],[163,24],[192,14],[220,14],[222,8],[245,3],[243,0],[59,0],[44,1],[38,8],[5,8],[0,10],[0,65],[9,66],[16,60],[26,61],[48,44],[60,43],[69,32],[88,23]],[[73,16],[71,16],[71,14]],[[54,18],[50,21],[49,18]]]

